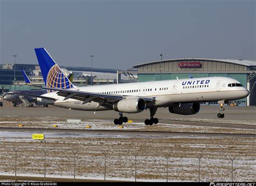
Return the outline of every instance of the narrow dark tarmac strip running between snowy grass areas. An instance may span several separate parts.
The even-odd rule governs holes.
[[[92,129],[46,129],[46,128],[0,128],[4,132],[50,132],[50,133],[93,133],[114,135],[164,135],[164,136],[195,136],[195,137],[256,137],[256,134],[229,134],[229,133],[185,133],[185,132],[157,132],[138,130],[92,130]]]

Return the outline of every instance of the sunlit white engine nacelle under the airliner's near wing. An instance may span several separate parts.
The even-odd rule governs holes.
[[[146,101],[142,98],[123,99],[113,105],[114,111],[124,113],[139,113],[146,108]]]

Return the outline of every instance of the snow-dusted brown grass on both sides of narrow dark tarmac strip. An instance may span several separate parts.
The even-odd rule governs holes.
[[[30,128],[119,129],[112,121],[85,120],[80,124],[68,124],[65,119],[52,117],[11,118],[0,117],[1,127],[17,127],[23,123]],[[247,132],[253,130],[221,127],[184,126],[175,123],[159,123],[145,126],[136,122],[124,125],[124,130],[160,130],[179,132]],[[90,129],[89,129],[90,130]],[[137,157],[137,181],[166,181],[166,158],[170,154],[169,181],[198,181],[197,155],[201,159],[201,181],[231,181],[231,161],[234,157],[234,181],[255,181],[255,139],[225,137],[183,137],[138,134],[93,134],[47,132],[44,141],[32,140],[33,132],[0,132],[1,175],[14,175],[17,153],[17,175],[43,176],[46,154],[46,176],[73,178],[73,153],[76,155],[76,177],[104,179],[103,151],[106,156],[106,180],[134,180],[134,155]]]

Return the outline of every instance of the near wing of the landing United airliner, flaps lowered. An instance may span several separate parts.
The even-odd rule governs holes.
[[[87,102],[95,101],[98,102],[98,106],[103,104],[112,105],[117,101],[124,99],[123,95],[116,95],[116,94],[100,94],[100,93],[93,93],[93,92],[84,92],[79,91],[79,89],[61,89],[61,88],[50,88],[50,87],[43,87],[43,89],[50,89],[52,91],[57,91],[57,95],[61,97],[65,97],[66,99],[76,99],[83,101],[82,104],[86,104]],[[154,98],[143,98],[145,101],[154,101]]]

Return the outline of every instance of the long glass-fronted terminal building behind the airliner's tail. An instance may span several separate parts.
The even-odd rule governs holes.
[[[117,70],[109,68],[60,66],[66,75],[73,74],[73,84],[76,86],[103,85],[116,83]],[[29,76],[32,84],[44,85],[39,65],[31,64],[4,64],[0,65],[0,95],[3,92],[14,90],[38,89],[25,84],[22,70]],[[92,70],[92,72],[91,72]],[[92,75],[91,75],[92,73]],[[123,75],[124,76],[124,75]],[[15,79],[15,80],[14,80]],[[123,81],[130,81],[123,77]]]

